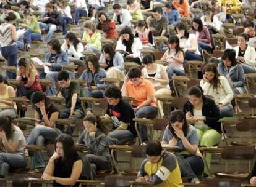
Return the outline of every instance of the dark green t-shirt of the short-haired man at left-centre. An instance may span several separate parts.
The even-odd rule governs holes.
[[[72,96],[77,93],[77,103],[75,109],[82,109],[81,100],[78,97],[83,96],[82,87],[79,82],[71,81],[69,87],[61,88],[61,95],[66,100],[65,108],[71,108]]]

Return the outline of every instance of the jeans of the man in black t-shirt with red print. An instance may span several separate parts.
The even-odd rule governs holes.
[[[108,135],[109,137],[116,138],[118,140],[118,145],[134,140],[134,135],[132,135],[130,130],[113,130],[112,132],[109,132]]]

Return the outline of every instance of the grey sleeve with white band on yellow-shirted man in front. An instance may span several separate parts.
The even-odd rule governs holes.
[[[169,175],[171,172],[177,167],[177,160],[174,154],[169,154],[163,160],[163,164],[161,167],[156,171],[155,174],[150,175],[148,181],[154,184],[163,183],[163,181],[168,180]]]

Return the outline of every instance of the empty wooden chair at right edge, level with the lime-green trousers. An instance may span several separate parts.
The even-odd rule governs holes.
[[[237,132],[249,132],[249,131],[256,130],[256,118],[242,119],[241,122],[236,124],[236,130],[237,130]],[[252,133],[252,134],[254,134],[254,133]],[[256,142],[251,141],[255,137],[246,136],[246,138],[244,138],[244,137],[242,137],[242,133],[240,133],[240,135],[241,135],[240,139],[242,139],[243,141],[232,141],[231,145],[233,145],[233,146],[256,146]]]

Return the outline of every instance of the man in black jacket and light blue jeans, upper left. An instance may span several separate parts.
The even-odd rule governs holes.
[[[44,21],[39,22],[39,25],[42,30],[48,30],[44,39],[44,42],[48,43],[57,30],[57,26],[61,26],[61,14],[55,10],[54,5],[51,3],[46,4],[45,9],[46,14],[43,15]]]

